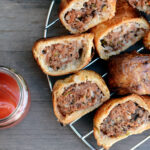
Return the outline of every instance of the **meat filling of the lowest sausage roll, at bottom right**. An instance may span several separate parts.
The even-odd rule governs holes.
[[[128,101],[113,108],[109,116],[100,125],[103,134],[117,137],[128,134],[128,130],[136,129],[150,121],[150,113],[133,101]]]

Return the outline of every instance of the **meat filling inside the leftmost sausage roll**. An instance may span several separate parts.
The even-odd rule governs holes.
[[[57,71],[63,69],[68,63],[74,62],[81,58],[84,44],[77,41],[67,44],[53,44],[45,47],[42,51],[46,55],[46,64]]]

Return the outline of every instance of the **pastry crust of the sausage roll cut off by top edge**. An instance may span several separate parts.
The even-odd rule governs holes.
[[[64,19],[64,15],[65,13],[67,12],[67,10],[70,8],[73,8],[75,9],[76,7],[72,7],[74,3],[77,3],[79,2],[79,4],[81,3],[84,3],[88,0],[61,0],[61,4],[60,4],[60,13],[59,13],[59,18],[60,18],[60,21],[61,23],[65,26],[65,28],[67,30],[69,30],[71,33],[73,34],[77,34],[77,33],[82,33],[81,31],[78,31],[78,30],[73,30],[70,25],[68,25]],[[111,19],[114,15],[115,15],[115,12],[116,12],[116,0],[109,0],[109,3],[112,7],[112,10],[111,10],[111,14],[109,15],[109,18],[103,18],[102,20],[100,21],[91,21],[90,24],[88,25],[88,27],[83,31],[87,31],[88,29],[96,26],[98,23],[101,23],[101,22],[104,22],[108,19]]]

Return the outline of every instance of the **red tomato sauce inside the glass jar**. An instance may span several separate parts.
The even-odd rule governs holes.
[[[17,82],[11,76],[0,72],[0,119],[14,112],[19,99],[20,89]]]

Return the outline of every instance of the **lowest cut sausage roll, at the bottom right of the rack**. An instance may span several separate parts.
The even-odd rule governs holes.
[[[150,97],[129,95],[111,99],[94,116],[94,136],[99,146],[114,143],[150,129]]]

